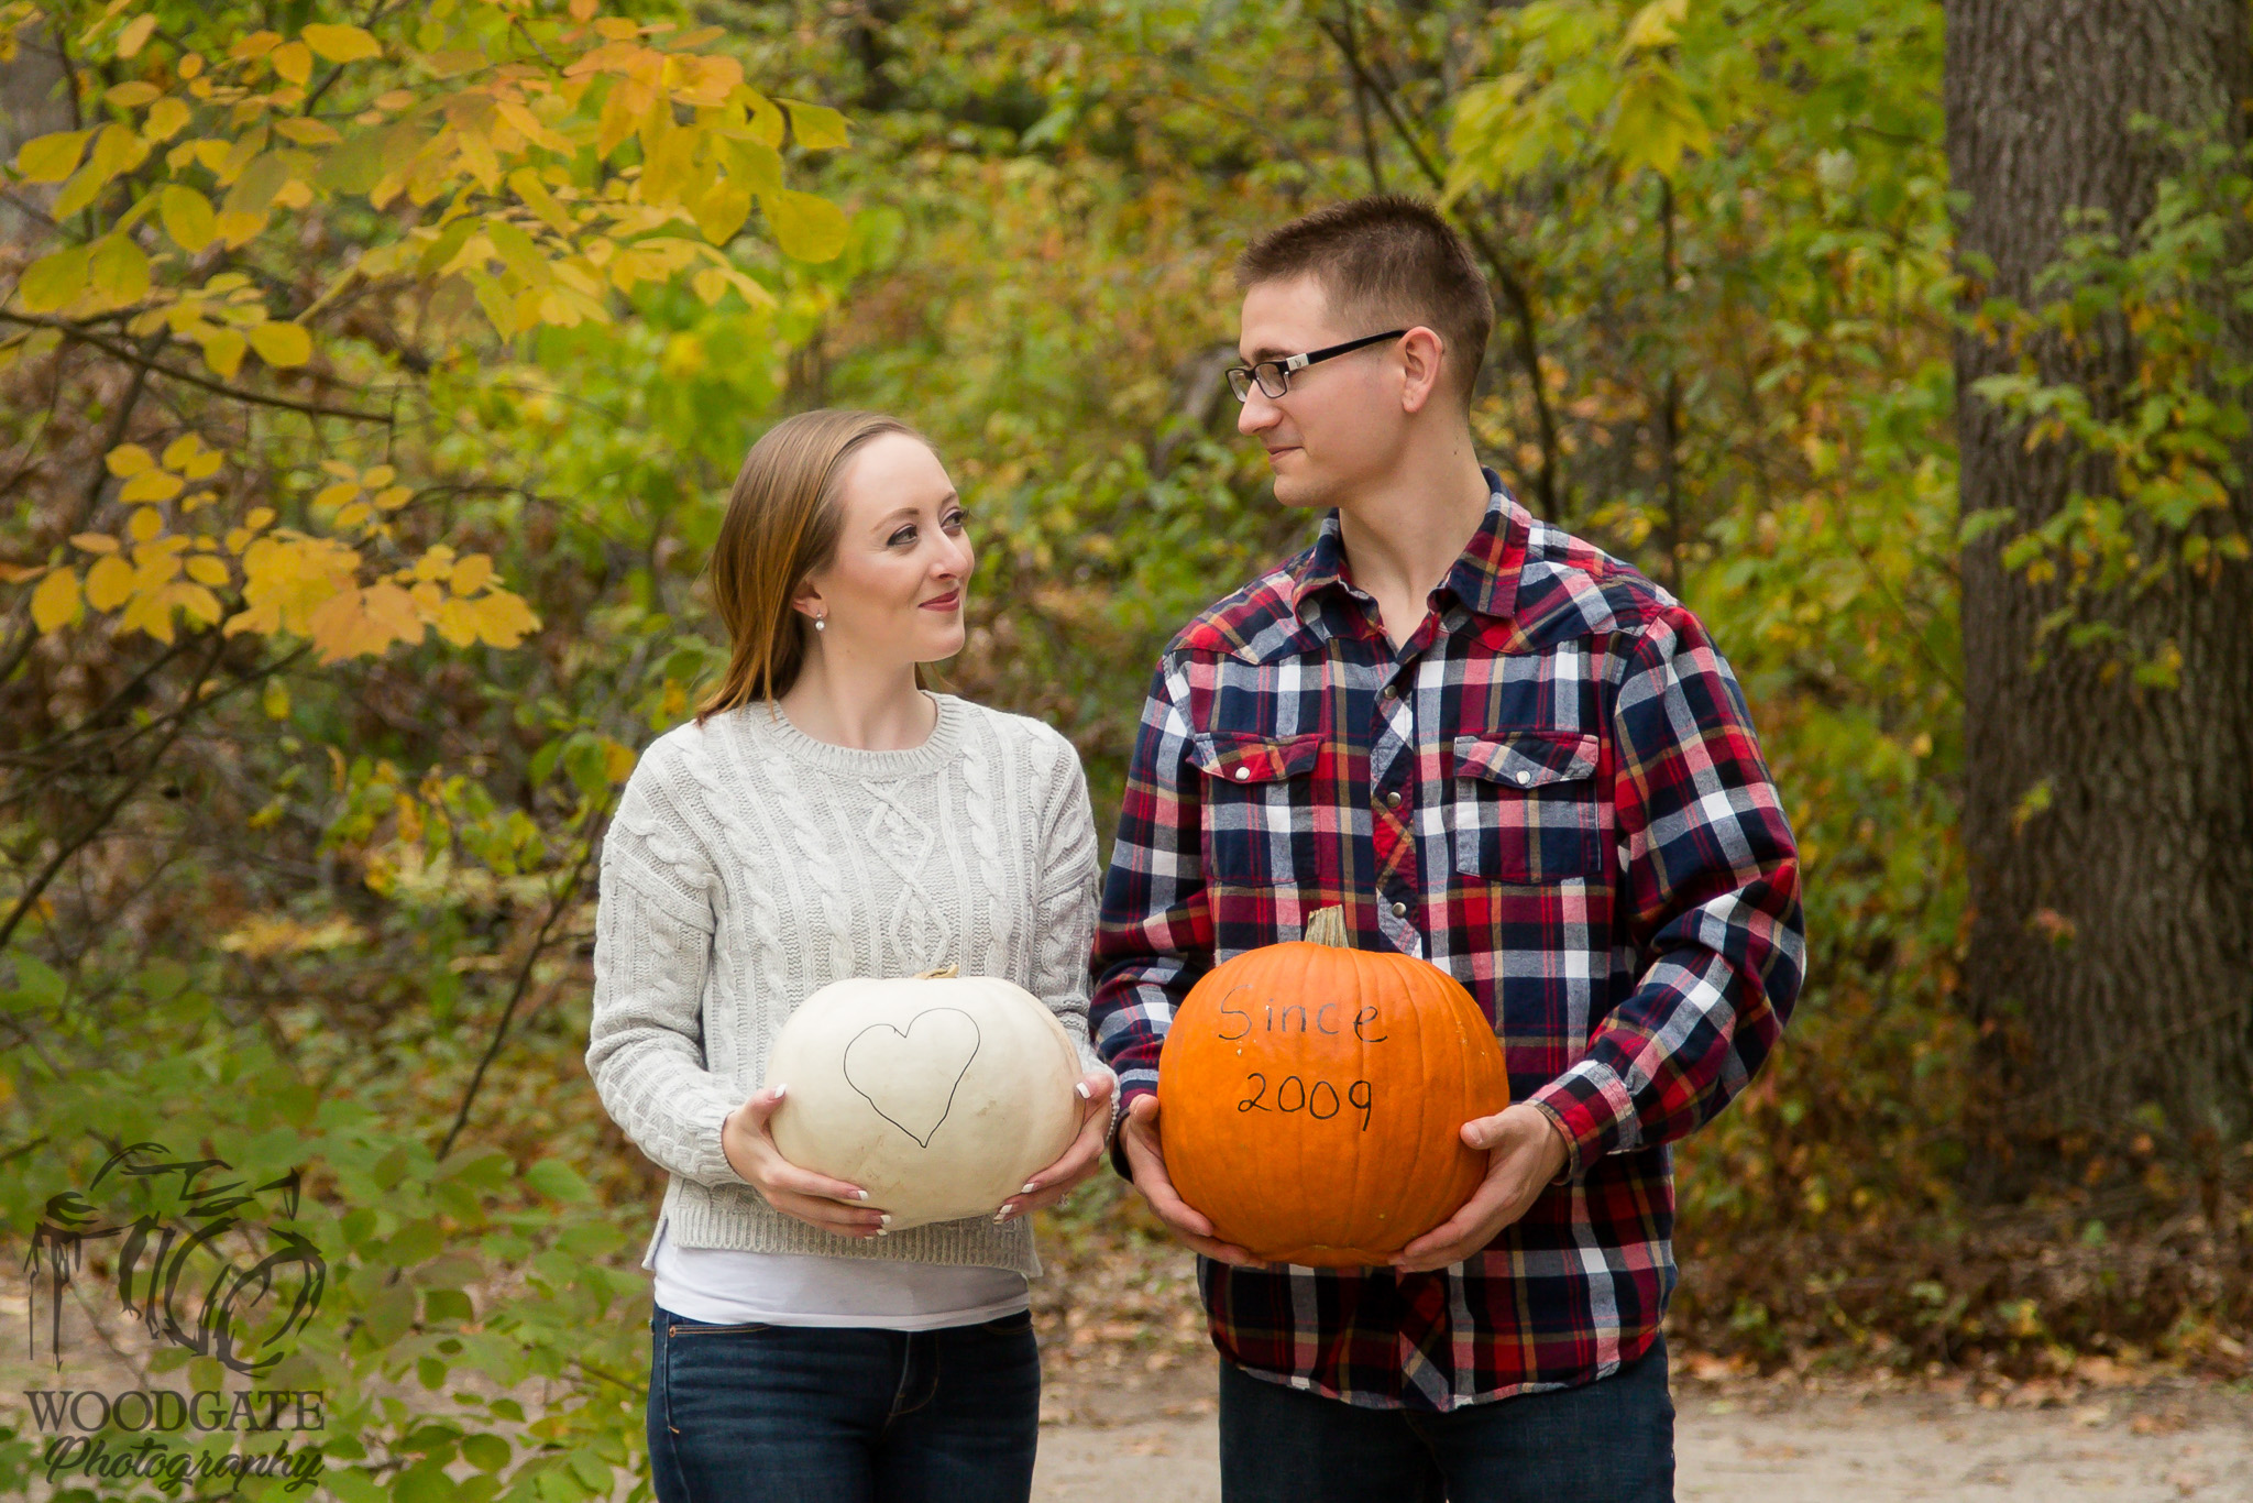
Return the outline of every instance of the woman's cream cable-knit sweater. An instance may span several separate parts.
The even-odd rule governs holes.
[[[960,964],[1045,1000],[1086,1070],[1102,870],[1079,753],[955,694],[908,750],[818,741],[768,703],[685,721],[642,753],[602,843],[588,1073],[671,1172],[642,1266],[674,1242],[759,1253],[996,1264],[1034,1275],[1025,1217],[836,1237],[766,1203],[721,1120],[766,1084],[807,996],[847,976]]]

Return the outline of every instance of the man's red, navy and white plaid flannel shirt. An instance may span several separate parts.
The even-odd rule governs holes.
[[[1199,1257],[1219,1352],[1368,1408],[1615,1372],[1674,1291],[1672,1140],[1744,1088],[1805,971],[1800,868],[1728,662],[1674,595],[1516,503],[1395,651],[1313,548],[1167,644],[1095,933],[1090,1025],[1156,1091],[1190,987],[1347,906],[1460,980],[1566,1172],[1433,1273]],[[1113,1165],[1124,1174],[1122,1149]]]

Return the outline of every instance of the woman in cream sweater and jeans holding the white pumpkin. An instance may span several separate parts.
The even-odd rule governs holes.
[[[1032,1494],[1041,1363],[1027,1215],[1095,1172],[1115,1077],[1088,1046],[1099,870],[1072,744],[924,687],[962,649],[973,552],[930,446],[802,412],[743,460],[712,548],[732,644],[642,753],[602,847],[602,1102],[671,1172],[649,1453],[662,1503]],[[775,1149],[766,1050],[847,976],[1007,976],[1079,1048],[1077,1140],[991,1221],[892,1235]]]

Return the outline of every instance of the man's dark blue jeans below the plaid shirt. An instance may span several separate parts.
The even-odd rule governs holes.
[[[1354,1408],[1221,1361],[1226,1503],[1672,1503],[1665,1336],[1606,1379],[1451,1413]]]

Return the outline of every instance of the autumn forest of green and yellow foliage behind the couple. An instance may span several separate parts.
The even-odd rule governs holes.
[[[2246,1377],[2253,45],[2206,7],[2052,133],[2109,219],[1971,194],[1951,90],[2089,9],[0,0],[9,1235],[54,1273],[79,1190],[232,1217],[182,1271],[318,1248],[309,1320],[219,1287],[354,1503],[644,1467],[593,856],[723,660],[746,446],[933,437],[980,550],[942,687],[1072,737],[1108,856],[1158,649],[1311,539],[1235,433],[1230,257],[1379,187],[1494,282],[1482,457],[1710,624],[1800,836],[1807,991],[1678,1154],[1669,1332]],[[1043,1237],[1072,1332],[1160,1248],[1108,1176]],[[198,1329],[151,1370],[216,1386]]]

